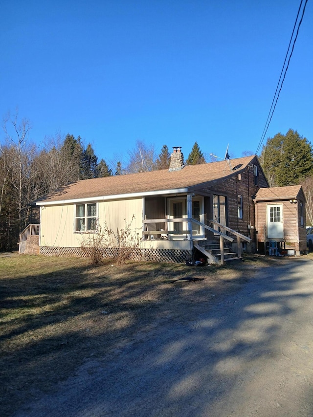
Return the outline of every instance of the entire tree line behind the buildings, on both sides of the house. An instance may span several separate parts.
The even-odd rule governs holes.
[[[39,147],[29,139],[27,119],[3,121],[4,140],[0,142],[0,251],[16,249],[18,237],[29,222],[29,203],[65,184],[81,179],[125,175],[168,169],[170,151],[163,145],[159,154],[154,145],[137,141],[128,151],[128,163],[110,168],[105,159],[85,148],[80,136],[57,133]],[[243,153],[247,154],[247,152]],[[277,133],[268,138],[259,155],[269,186],[301,184],[307,198],[307,223],[313,224],[313,151],[311,143],[297,131]],[[211,159],[212,160],[212,159]],[[205,163],[197,142],[186,164]],[[112,165],[112,164],[111,164]]]

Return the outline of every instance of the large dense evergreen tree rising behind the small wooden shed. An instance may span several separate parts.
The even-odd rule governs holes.
[[[298,184],[313,174],[311,143],[292,129],[277,133],[263,146],[260,162],[271,187]]]

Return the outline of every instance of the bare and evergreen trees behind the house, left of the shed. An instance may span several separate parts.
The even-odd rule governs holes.
[[[137,141],[128,152],[129,162],[115,169],[95,154],[91,144],[84,147],[80,136],[60,133],[45,139],[39,147],[30,140],[28,119],[3,120],[4,139],[0,141],[0,251],[16,249],[19,234],[29,223],[29,203],[65,184],[81,179],[124,175],[167,169],[170,152],[163,145],[156,155],[153,145]],[[198,159],[197,158],[198,154]],[[197,143],[189,156],[190,163],[204,163]]]

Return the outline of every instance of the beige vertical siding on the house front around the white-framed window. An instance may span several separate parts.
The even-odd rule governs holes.
[[[142,230],[142,199],[100,201],[97,203],[98,221],[103,228],[105,221],[109,229],[125,229],[134,215],[131,228]],[[75,204],[45,206],[41,208],[40,246],[79,247],[88,233],[75,232]]]

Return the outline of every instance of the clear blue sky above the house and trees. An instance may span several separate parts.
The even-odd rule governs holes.
[[[80,135],[107,162],[137,140],[255,153],[299,5],[2,0],[0,116],[18,107],[37,144]],[[290,128],[313,141],[312,22],[309,1],[265,142]]]

